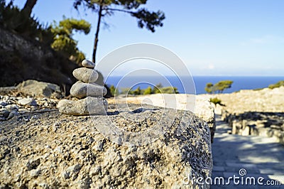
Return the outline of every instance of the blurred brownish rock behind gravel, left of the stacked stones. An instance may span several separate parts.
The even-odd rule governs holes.
[[[24,82],[21,82],[16,88],[25,95],[36,97],[62,97],[60,87],[49,82],[26,80]]]

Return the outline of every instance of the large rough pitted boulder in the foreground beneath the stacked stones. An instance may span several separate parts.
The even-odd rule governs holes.
[[[45,112],[0,121],[0,187],[209,188],[192,179],[206,178],[212,171],[206,122],[175,109],[141,111],[141,106],[129,104],[130,112],[118,112],[115,107],[109,106],[108,116],[92,118]],[[176,118],[165,134],[145,146],[114,144],[94,128],[109,120],[127,131],[143,131],[168,115]],[[190,124],[181,117],[192,118]],[[184,185],[188,178],[189,185]]]

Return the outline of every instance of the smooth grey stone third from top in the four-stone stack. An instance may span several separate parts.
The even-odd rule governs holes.
[[[77,81],[72,85],[70,89],[72,97],[84,98],[84,97],[103,97],[107,95],[107,89],[102,85],[96,83],[84,83]]]

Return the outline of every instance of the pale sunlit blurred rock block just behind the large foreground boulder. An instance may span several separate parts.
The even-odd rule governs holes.
[[[110,99],[111,100],[111,99]],[[190,110],[194,112],[197,117],[207,121],[211,131],[213,142],[214,132],[216,130],[214,107],[209,102],[209,97],[201,95],[185,95],[185,94],[155,94],[143,95],[140,97],[116,97],[111,102],[131,102],[135,104],[153,104],[157,107],[167,107],[173,109]]]

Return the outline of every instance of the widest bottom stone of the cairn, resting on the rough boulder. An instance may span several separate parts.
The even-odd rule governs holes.
[[[106,115],[107,100],[104,97],[87,97],[77,101],[62,99],[58,102],[59,112],[69,115]]]

